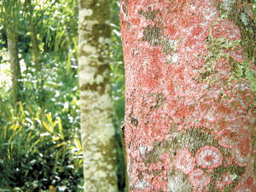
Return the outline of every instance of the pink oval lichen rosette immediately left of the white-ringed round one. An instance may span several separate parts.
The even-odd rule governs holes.
[[[174,166],[180,169],[184,174],[189,174],[195,167],[195,158],[188,150],[179,149],[177,155],[174,157]]]

